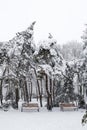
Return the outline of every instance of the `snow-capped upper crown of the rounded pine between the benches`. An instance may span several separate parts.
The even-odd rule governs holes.
[[[63,58],[57,49],[57,41],[55,39],[48,38],[40,43],[40,47],[35,53],[35,62],[49,64],[53,69],[63,65]]]

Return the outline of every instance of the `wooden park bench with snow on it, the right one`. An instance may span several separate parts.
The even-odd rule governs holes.
[[[65,111],[65,110],[78,110],[78,107],[75,106],[73,103],[60,103],[59,104],[60,110]]]

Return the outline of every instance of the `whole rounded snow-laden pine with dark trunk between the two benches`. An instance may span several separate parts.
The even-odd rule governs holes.
[[[57,41],[53,39],[51,34],[49,34],[47,40],[40,42],[39,49],[34,54],[34,61],[35,63],[38,64],[38,66],[42,68],[44,72],[44,73],[40,72],[40,75],[42,75],[42,77],[45,76],[46,79],[45,88],[48,97],[47,108],[50,109],[52,104],[54,104],[53,102],[54,102],[55,95],[58,94],[56,92],[57,84],[55,84],[55,81],[59,80],[59,78],[61,77],[60,70],[64,68],[64,61],[62,55],[58,50]]]

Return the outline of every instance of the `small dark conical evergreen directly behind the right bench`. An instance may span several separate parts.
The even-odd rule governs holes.
[[[62,102],[72,102],[75,100],[73,78],[74,71],[73,68],[66,63],[66,69],[64,76],[64,85],[62,88],[62,95],[60,96]]]

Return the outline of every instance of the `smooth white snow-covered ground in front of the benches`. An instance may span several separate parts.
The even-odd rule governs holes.
[[[84,110],[52,112],[40,109],[40,112],[0,111],[0,130],[87,130],[82,126]]]

